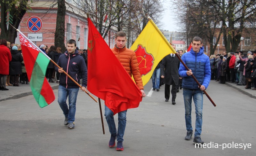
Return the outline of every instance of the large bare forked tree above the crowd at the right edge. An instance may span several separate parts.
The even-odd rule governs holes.
[[[245,22],[256,16],[256,1],[212,0],[211,2],[220,13],[226,51],[236,51]]]

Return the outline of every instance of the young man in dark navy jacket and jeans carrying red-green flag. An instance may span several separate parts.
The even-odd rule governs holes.
[[[62,69],[55,66],[55,71],[60,73],[60,85],[58,91],[58,103],[65,115],[64,125],[68,125],[69,129],[75,128],[75,114],[76,114],[76,98],[79,86],[76,85],[63,71],[67,72],[76,82],[80,83],[82,77],[82,91],[87,87],[87,68],[84,58],[79,55],[76,50],[76,41],[69,40],[67,43],[67,51],[64,55],[60,55],[57,63]],[[67,105],[67,97],[69,101],[69,109]]]

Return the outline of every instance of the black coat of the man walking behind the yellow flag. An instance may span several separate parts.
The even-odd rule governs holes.
[[[164,75],[164,83],[167,85],[179,84],[179,67],[180,60],[175,56],[172,58],[171,55],[167,55],[163,58],[161,64],[161,74]]]

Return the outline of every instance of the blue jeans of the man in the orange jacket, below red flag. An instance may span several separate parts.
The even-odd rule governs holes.
[[[117,141],[124,141],[124,130],[126,126],[126,112],[122,111],[118,113],[118,130],[117,130]],[[116,124],[114,120],[114,113],[105,105],[105,117],[108,122],[109,132],[112,135],[116,134]]]

